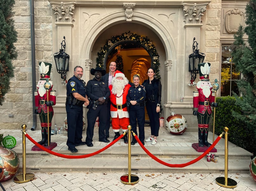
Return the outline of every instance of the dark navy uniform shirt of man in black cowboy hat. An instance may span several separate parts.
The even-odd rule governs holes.
[[[86,94],[90,100],[97,101],[101,97],[105,97],[107,100],[110,95],[110,91],[108,84],[105,81],[102,79],[98,81],[93,78],[92,80],[89,80],[86,85]]]

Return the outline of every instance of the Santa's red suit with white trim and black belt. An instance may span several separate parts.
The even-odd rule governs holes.
[[[130,87],[131,85],[127,84],[124,87],[121,95],[114,95],[112,93],[113,86],[109,86],[109,90],[111,92],[109,96],[111,101],[110,115],[112,117],[112,128],[115,132],[119,132],[120,128],[127,130],[127,126],[129,125],[129,113],[127,111],[126,96]]]

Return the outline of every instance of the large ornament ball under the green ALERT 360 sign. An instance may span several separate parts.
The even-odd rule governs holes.
[[[0,146],[0,182],[11,179],[19,169],[20,160],[16,152]]]

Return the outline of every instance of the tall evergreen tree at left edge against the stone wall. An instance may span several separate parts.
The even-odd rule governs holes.
[[[13,43],[17,41],[14,29],[13,5],[15,0],[0,0],[0,105],[4,95],[10,90],[10,78],[14,76],[12,60],[17,53]]]

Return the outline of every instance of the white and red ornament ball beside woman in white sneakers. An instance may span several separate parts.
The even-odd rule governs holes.
[[[187,130],[187,119],[180,114],[172,112],[171,115],[167,117],[165,126],[171,134],[180,135]]]

